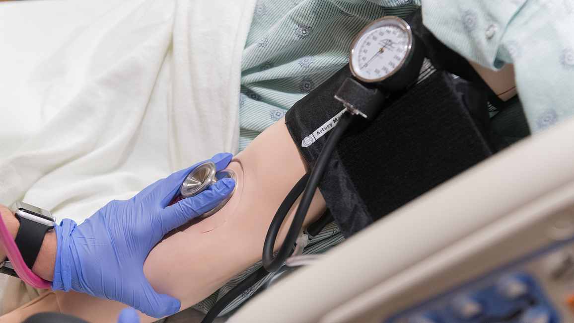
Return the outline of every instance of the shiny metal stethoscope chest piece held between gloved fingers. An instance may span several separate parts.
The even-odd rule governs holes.
[[[207,190],[215,184],[218,180],[224,178],[232,178],[237,181],[237,175],[232,170],[221,170],[217,171],[216,166],[211,161],[204,161],[203,163],[197,165],[193,168],[181,184],[179,194],[172,199],[169,204],[172,205],[181,199],[194,197],[195,195]],[[231,193],[227,194],[226,198],[215,206],[213,209],[201,214],[198,218],[207,218],[218,212],[231,198],[231,195],[235,192],[235,187],[231,190]]]

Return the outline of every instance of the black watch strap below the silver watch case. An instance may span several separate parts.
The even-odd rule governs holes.
[[[44,242],[46,231],[52,229],[53,226],[47,226],[23,217],[16,216],[16,218],[20,221],[20,229],[18,229],[14,242],[18,246],[26,266],[32,269],[34,262],[36,262],[36,257],[40,253],[40,247],[42,247],[42,242]]]

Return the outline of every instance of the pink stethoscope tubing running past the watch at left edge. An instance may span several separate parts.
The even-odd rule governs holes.
[[[22,280],[26,284],[37,288],[37,289],[49,289],[51,288],[50,282],[48,280],[44,280],[38,276],[36,276],[24,263],[24,259],[22,259],[22,255],[16,246],[14,240],[12,240],[12,236],[6,228],[4,221],[0,218],[0,243],[6,249],[6,254],[8,255],[8,259],[10,259],[10,263],[14,267],[14,270],[20,276]]]

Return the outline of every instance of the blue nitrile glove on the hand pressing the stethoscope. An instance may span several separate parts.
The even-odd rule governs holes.
[[[221,170],[231,157],[219,153],[210,160]],[[166,207],[195,166],[158,180],[127,201],[111,201],[80,225],[64,219],[55,226],[52,289],[113,299],[156,318],[176,313],[180,302],[153,290],[144,261],[166,233],[213,209],[235,186],[233,179],[222,179]]]

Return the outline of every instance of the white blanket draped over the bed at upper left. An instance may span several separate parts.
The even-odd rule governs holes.
[[[80,223],[112,199],[235,153],[254,7],[0,2],[0,203]],[[0,312],[13,307],[6,302]]]

